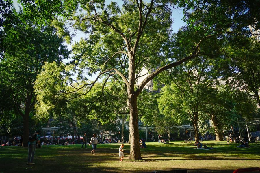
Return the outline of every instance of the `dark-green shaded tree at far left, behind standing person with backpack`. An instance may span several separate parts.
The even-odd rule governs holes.
[[[56,29],[20,20],[23,13],[14,12],[13,18],[4,21],[1,47],[4,58],[0,61],[1,97],[6,105],[23,117],[23,146],[29,137],[29,114],[36,103],[34,82],[44,62],[62,61],[68,58],[63,39],[57,37]],[[3,106],[3,107],[2,107]],[[1,110],[5,106],[1,105]]]

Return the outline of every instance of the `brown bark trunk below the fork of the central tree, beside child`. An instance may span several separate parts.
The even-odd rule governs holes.
[[[137,112],[137,97],[132,95],[129,97],[129,110],[130,110],[130,155],[129,160],[142,160],[140,145],[139,145],[139,129],[138,129],[138,112]]]

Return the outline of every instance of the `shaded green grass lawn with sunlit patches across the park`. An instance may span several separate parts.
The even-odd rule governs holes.
[[[144,160],[128,161],[130,145],[124,147],[125,158],[119,162],[120,144],[100,144],[96,155],[91,146],[42,146],[36,148],[35,165],[26,165],[27,148],[0,147],[0,173],[7,172],[152,172],[154,170],[188,169],[189,172],[232,173],[237,168],[260,166],[260,145],[235,148],[237,144],[205,141],[213,150],[195,150],[193,143],[147,142],[141,148]]]

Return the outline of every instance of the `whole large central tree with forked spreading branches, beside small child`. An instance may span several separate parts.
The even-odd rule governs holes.
[[[82,69],[79,70],[79,77],[85,80],[85,84],[70,91],[70,94],[79,97],[76,92],[86,87],[88,89],[85,91],[88,93],[92,88],[88,86],[93,86],[101,76],[115,76],[125,83],[130,111],[131,160],[142,159],[137,97],[146,83],[166,69],[203,54],[205,40],[220,37],[227,31],[232,32],[240,26],[241,16],[246,18],[251,15],[251,4],[233,5],[227,1],[129,0],[119,7],[115,2],[106,4],[104,0],[55,3],[40,0],[23,1],[23,5],[27,14],[33,14],[36,18],[49,18],[52,13],[62,15],[62,20],[53,22],[60,29],[60,34],[68,33],[68,30],[62,27],[64,21],[68,21],[75,29],[88,33],[88,39],[76,43],[80,51],[75,55]],[[177,6],[184,9],[184,20],[188,22],[187,28],[184,29],[188,39],[184,36],[182,44],[184,46],[192,43],[181,56],[174,54],[169,48],[173,22],[171,15]],[[252,20],[249,23],[255,22],[255,18]],[[166,59],[171,61],[165,63]],[[135,89],[135,82],[142,68],[156,70],[149,71],[150,74]],[[93,73],[97,73],[94,82],[83,77],[84,74]]]

